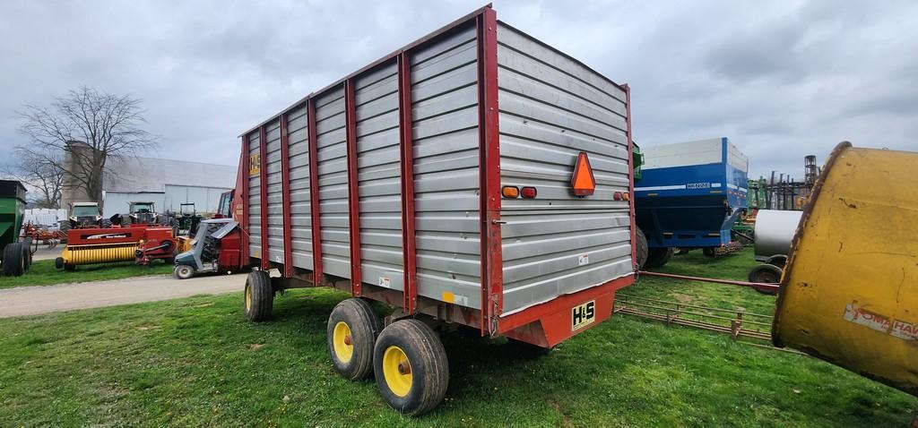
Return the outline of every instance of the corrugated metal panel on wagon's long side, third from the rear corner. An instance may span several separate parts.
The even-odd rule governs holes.
[[[351,278],[351,236],[348,226],[347,148],[344,132],[344,89],[338,87],[316,98],[316,135],[319,162],[319,222],[322,270]]]

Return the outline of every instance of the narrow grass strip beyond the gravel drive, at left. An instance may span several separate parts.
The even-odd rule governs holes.
[[[173,265],[166,265],[162,260],[155,260],[150,266],[137,266],[132,261],[126,261],[77,266],[73,272],[66,272],[62,269],[55,269],[54,260],[38,260],[32,263],[32,267],[21,277],[0,277],[0,289],[91,280],[119,280],[143,275],[172,273],[172,269]]]

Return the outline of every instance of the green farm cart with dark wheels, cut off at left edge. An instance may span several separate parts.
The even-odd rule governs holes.
[[[32,265],[30,242],[19,242],[26,212],[26,188],[19,181],[0,180],[0,264],[6,277],[18,277]]]

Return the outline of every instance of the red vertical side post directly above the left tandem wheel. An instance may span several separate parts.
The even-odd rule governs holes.
[[[351,293],[361,294],[360,182],[357,176],[357,106],[353,79],[344,81],[344,130],[347,137],[347,197],[351,232]]]

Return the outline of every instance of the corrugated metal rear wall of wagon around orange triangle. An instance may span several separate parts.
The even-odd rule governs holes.
[[[632,273],[625,94],[599,74],[498,25],[500,178],[535,186],[501,202],[504,305],[513,313]],[[571,190],[588,153],[593,195]]]

